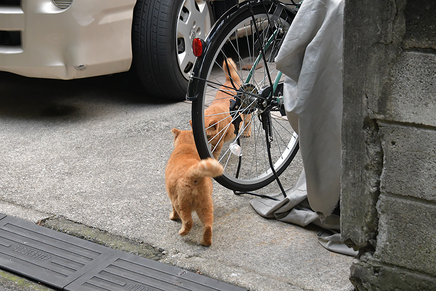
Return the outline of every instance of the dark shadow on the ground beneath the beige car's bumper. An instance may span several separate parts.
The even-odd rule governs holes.
[[[38,79],[0,72],[0,117],[86,119],[79,102],[164,105],[174,101],[149,96],[132,72],[75,80]]]

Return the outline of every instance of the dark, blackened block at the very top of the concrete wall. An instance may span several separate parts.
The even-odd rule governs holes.
[[[407,48],[436,49],[436,1],[408,0],[405,5]]]

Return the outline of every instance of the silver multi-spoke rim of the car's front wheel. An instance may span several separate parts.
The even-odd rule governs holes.
[[[194,38],[205,39],[211,28],[211,14],[204,0],[184,0],[177,17],[177,61],[180,72],[188,80],[195,56],[192,52]]]

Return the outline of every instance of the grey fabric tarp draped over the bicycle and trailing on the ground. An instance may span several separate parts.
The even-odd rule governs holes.
[[[343,0],[304,0],[276,57],[287,76],[284,106],[304,170],[285,199],[250,204],[268,218],[329,229],[318,235],[324,247],[356,255],[340,242],[339,217],[330,215],[341,190],[342,53]]]

